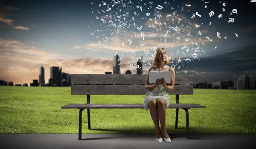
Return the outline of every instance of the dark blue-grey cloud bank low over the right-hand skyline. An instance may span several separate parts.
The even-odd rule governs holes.
[[[186,67],[181,64],[180,69],[176,69],[180,74],[186,70],[192,73],[200,82],[218,84],[220,80],[237,80],[249,75],[251,80],[256,80],[256,44],[216,51],[210,56],[195,59],[193,63],[186,63]],[[176,66],[176,68],[177,68]],[[188,67],[188,68],[187,68]]]

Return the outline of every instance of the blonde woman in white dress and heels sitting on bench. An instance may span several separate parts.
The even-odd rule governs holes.
[[[166,142],[172,143],[171,138],[166,132],[166,108],[169,109],[170,97],[168,90],[172,91],[174,88],[175,71],[171,67],[167,66],[168,63],[169,57],[166,53],[166,50],[163,48],[158,48],[154,53],[152,61],[154,67],[151,67],[148,72],[151,70],[169,70],[171,72],[170,86],[166,85],[166,82],[163,78],[157,79],[154,85],[150,85],[148,75],[145,83],[145,89],[149,89],[149,91],[144,97],[144,108],[146,111],[148,111],[149,107],[150,115],[156,128],[156,139],[159,143],[163,141],[163,138]],[[163,138],[161,136],[161,129],[159,127],[158,118],[161,123]]]

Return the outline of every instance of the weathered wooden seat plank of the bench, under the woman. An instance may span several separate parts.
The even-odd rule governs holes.
[[[61,109],[143,109],[143,104],[68,104],[62,106]],[[169,105],[170,109],[173,108],[205,108],[195,103],[172,103]]]

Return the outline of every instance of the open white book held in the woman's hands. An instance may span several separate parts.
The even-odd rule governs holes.
[[[161,72],[157,70],[151,70],[148,72],[148,77],[149,77],[149,83],[155,83],[157,79],[164,78],[166,83],[171,82],[171,72],[168,70],[163,70]]]

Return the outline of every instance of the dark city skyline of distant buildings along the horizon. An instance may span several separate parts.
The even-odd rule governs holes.
[[[120,71],[118,71],[118,73],[116,73],[116,71],[120,69],[120,60],[119,59],[120,59],[120,57],[118,56],[118,54],[116,54],[113,57],[113,72],[105,72],[105,74],[120,74]],[[170,63],[168,65],[170,67],[172,67],[170,65]],[[137,61],[137,66],[136,66],[137,69],[136,69],[135,74],[142,74],[143,71],[140,70],[140,68],[142,68],[142,67],[143,67],[143,57],[140,57]],[[61,77],[61,79],[64,79],[64,78],[62,78],[63,74],[65,75],[65,78],[67,78],[65,80],[70,82],[70,80],[69,80],[70,79],[70,74],[62,72],[62,67],[61,67],[61,69],[59,69],[58,66],[51,66],[50,67],[49,81],[51,80],[51,83],[49,83],[49,82],[45,83],[45,78],[41,77],[41,76],[44,76],[44,67],[41,66],[39,69],[40,69],[39,70],[39,72],[40,72],[39,82],[36,82],[36,79],[33,79],[33,84],[38,83],[38,85],[35,84],[35,86],[41,86],[41,80],[43,82],[42,86],[44,86],[44,85],[53,86],[53,84],[55,84],[56,86],[62,86],[61,83],[60,83],[61,80],[58,79],[58,77]],[[59,72],[60,72],[60,74],[59,74]],[[131,72],[131,70],[127,70],[127,71],[125,71],[124,74],[133,74],[133,73]],[[3,81],[5,81],[5,80],[3,80]],[[13,85],[12,81],[6,81],[6,83]],[[23,85],[24,84],[27,84],[27,83],[23,83]],[[31,84],[32,83],[30,83],[30,86],[31,86]],[[16,85],[17,84],[15,84],[15,86]],[[18,85],[21,85],[21,84],[18,84]],[[230,79],[224,80],[224,79],[222,79],[222,80],[220,80],[219,85],[218,84],[213,85],[212,83],[207,83],[207,82],[194,83],[194,88],[201,88],[201,89],[217,89],[218,87],[219,87],[219,89],[256,89],[255,86],[256,86],[256,80],[250,80],[250,77],[248,75],[246,75],[244,78],[238,78],[237,80],[230,80]]]

